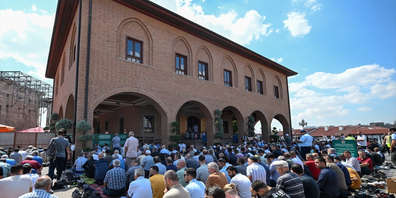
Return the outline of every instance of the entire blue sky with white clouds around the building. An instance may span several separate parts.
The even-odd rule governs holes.
[[[289,78],[293,128],[301,119],[309,126],[396,120],[396,1],[153,2],[298,72]],[[0,1],[0,70],[52,84],[44,72],[56,6]]]

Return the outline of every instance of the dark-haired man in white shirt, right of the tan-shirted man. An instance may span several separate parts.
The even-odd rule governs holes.
[[[228,166],[228,176],[231,177],[230,183],[234,183],[236,191],[241,198],[251,198],[250,187],[251,181],[245,175],[238,173],[234,166]]]

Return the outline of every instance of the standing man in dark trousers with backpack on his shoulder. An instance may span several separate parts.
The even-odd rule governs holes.
[[[63,166],[66,161],[66,152],[70,152],[70,144],[67,139],[63,137],[63,130],[58,131],[58,137],[52,138],[47,148],[47,155],[49,159],[48,176],[53,178],[56,168],[57,180],[61,180]],[[70,155],[67,156],[70,159]]]

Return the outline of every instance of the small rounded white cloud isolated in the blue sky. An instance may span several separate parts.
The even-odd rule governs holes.
[[[305,19],[305,13],[290,12],[287,19],[283,21],[284,28],[290,31],[291,36],[303,36],[308,34],[312,26],[308,25],[308,19]]]

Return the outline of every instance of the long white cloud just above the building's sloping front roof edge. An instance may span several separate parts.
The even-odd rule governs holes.
[[[241,45],[260,40],[262,36],[268,36],[273,31],[270,28],[272,24],[265,22],[265,16],[255,10],[247,11],[243,17],[238,17],[234,10],[215,16],[205,14],[202,7],[192,4],[191,0],[153,2]]]

